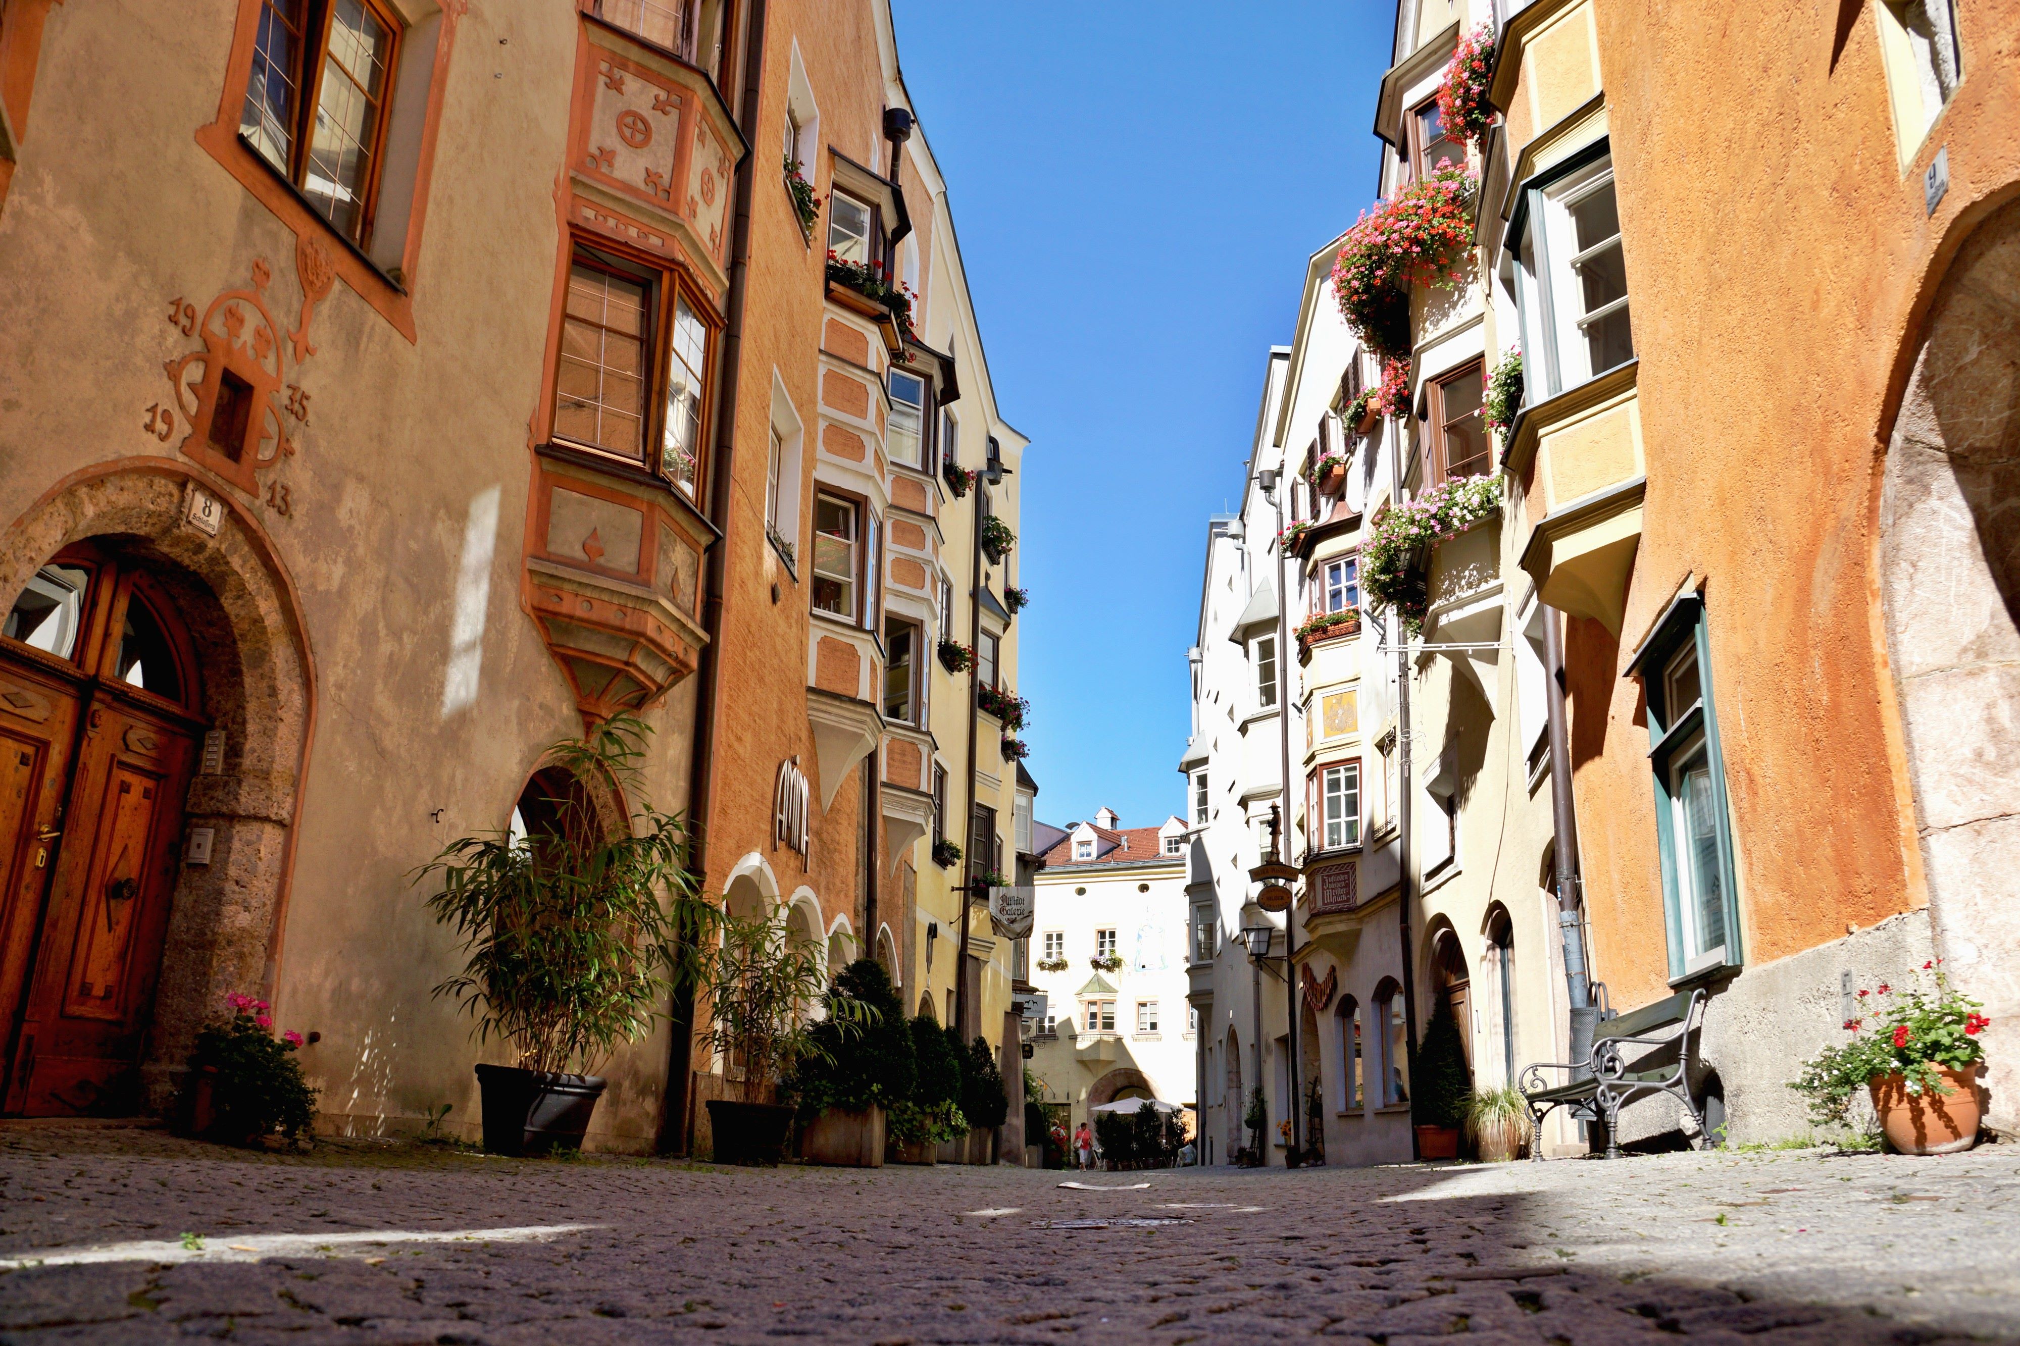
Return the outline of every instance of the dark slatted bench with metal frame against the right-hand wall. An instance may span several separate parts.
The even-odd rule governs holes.
[[[1604,1114],[1606,1158],[1620,1158],[1620,1110],[1650,1093],[1669,1093],[1683,1103],[1697,1132],[1691,1144],[1703,1148],[1705,1118],[1691,1097],[1693,1043],[1703,1023],[1705,990],[1679,990],[1666,1000],[1602,1021],[1586,1061],[1572,1065],[1537,1061],[1523,1069],[1517,1087],[1535,1124],[1529,1158],[1543,1158],[1543,1118],[1555,1108],[1578,1105],[1592,1105]],[[1658,1051],[1666,1055],[1669,1049],[1677,1053],[1673,1065],[1634,1069],[1646,1065]],[[1568,1079],[1553,1085],[1545,1071],[1566,1071]]]

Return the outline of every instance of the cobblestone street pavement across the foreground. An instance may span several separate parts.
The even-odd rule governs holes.
[[[2020,1340],[2020,1146],[1077,1176],[0,1128],[0,1342]]]

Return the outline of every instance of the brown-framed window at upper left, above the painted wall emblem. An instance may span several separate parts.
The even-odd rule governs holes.
[[[238,133],[368,247],[400,20],[376,0],[261,0]]]

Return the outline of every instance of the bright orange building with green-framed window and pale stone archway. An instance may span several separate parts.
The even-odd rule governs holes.
[[[2010,1130],[2020,10],[1507,8],[1481,243],[1594,976],[1709,988],[1709,1120],[1770,1138],[1856,988],[1943,958]]]

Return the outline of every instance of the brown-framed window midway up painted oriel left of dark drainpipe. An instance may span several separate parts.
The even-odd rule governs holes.
[[[707,354],[709,325],[673,277],[578,247],[562,309],[553,439],[656,471],[693,497]]]

